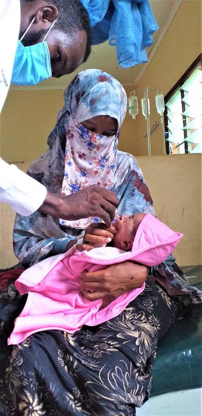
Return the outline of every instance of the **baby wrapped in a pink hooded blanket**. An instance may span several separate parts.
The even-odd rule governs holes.
[[[8,344],[19,344],[27,336],[49,329],[73,333],[83,325],[95,326],[117,316],[145,288],[123,293],[106,308],[103,299],[87,300],[80,293],[78,277],[126,260],[146,266],[164,261],[182,234],[168,228],[151,214],[120,217],[112,247],[68,252],[50,257],[27,269],[16,280],[20,294],[28,293],[26,305],[15,320]]]

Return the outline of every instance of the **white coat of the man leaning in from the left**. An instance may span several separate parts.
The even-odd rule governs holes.
[[[20,20],[19,0],[0,0],[0,112],[10,86]],[[9,203],[14,211],[27,216],[42,205],[46,195],[44,185],[0,158],[1,202]]]

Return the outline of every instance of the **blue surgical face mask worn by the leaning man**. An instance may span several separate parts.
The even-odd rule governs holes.
[[[32,46],[24,46],[21,41],[26,35],[35,17],[24,35],[17,43],[11,82],[17,85],[34,85],[52,76],[50,52],[47,42],[44,42],[54,22],[50,26],[43,42]]]

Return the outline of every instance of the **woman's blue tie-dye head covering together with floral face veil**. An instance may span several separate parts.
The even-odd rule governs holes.
[[[70,116],[62,195],[78,192],[92,184],[113,190],[117,136],[127,108],[123,86],[106,72],[88,69],[76,75],[66,89],[64,99]],[[115,118],[118,123],[116,135],[101,136],[80,124],[96,116]],[[78,221],[61,219],[60,223],[85,229],[91,222],[100,221],[102,219],[95,215]]]

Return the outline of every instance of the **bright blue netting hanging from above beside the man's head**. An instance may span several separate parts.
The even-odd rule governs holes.
[[[146,47],[158,30],[149,0],[81,1],[89,13],[93,45],[109,39],[123,68],[147,62]]]

